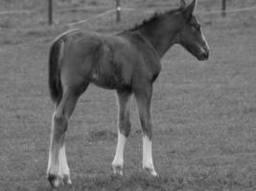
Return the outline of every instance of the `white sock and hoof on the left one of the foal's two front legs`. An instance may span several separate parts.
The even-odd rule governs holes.
[[[113,170],[115,174],[123,176],[123,165],[124,165],[124,148],[127,138],[118,131],[117,147],[115,158],[112,162]]]

